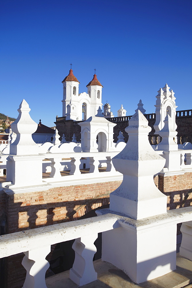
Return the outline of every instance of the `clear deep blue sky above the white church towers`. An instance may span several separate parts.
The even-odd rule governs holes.
[[[0,112],[17,117],[24,98],[33,120],[62,116],[70,63],[87,92],[94,68],[116,116],[142,99],[155,112],[166,82],[177,110],[191,109],[191,0],[1,0]]]

